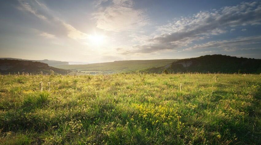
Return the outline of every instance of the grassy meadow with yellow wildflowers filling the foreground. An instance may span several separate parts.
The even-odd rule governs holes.
[[[0,144],[257,145],[260,86],[242,74],[4,75]]]

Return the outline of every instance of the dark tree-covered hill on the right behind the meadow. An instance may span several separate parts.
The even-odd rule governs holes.
[[[261,59],[231,57],[227,55],[205,55],[181,59],[169,65],[145,69],[144,72],[201,72],[201,73],[261,73]]]

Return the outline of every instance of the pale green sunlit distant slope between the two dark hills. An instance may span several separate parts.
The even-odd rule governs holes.
[[[90,72],[91,74],[112,74],[118,72],[148,69],[152,67],[160,67],[170,64],[174,61],[177,61],[177,59],[114,61],[88,65],[60,65],[56,66],[56,68],[77,70],[85,73]]]

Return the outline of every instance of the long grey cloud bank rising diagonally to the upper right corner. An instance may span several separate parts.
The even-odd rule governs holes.
[[[234,31],[236,26],[260,24],[261,2],[242,2],[239,5],[225,6],[219,10],[200,11],[191,17],[182,17],[159,26],[157,29],[159,34],[147,39],[149,45],[137,45],[128,52],[147,53],[187,47],[188,44],[199,39]],[[215,44],[218,45],[218,43]]]

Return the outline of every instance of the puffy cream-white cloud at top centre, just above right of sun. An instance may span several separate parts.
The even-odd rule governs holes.
[[[112,0],[111,5],[94,13],[96,27],[107,31],[137,29],[147,24],[143,10],[135,10],[132,0]]]

